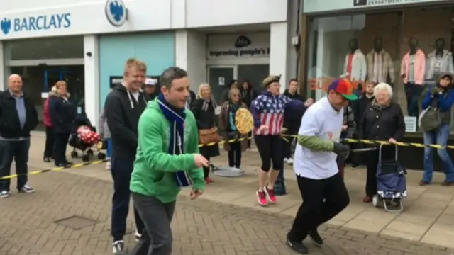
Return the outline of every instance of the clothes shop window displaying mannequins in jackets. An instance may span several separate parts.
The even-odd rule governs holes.
[[[405,83],[411,81],[402,78],[402,73],[408,75],[409,52],[417,52],[411,61],[414,70],[419,70],[415,77],[421,77],[413,79],[416,84],[433,86],[438,72],[454,71],[452,7],[404,8],[308,20],[306,84],[313,98],[324,96],[332,79],[348,73],[354,86],[366,80],[391,84],[394,100],[404,115],[415,115],[414,109],[410,106],[409,111],[407,107],[405,93]]]

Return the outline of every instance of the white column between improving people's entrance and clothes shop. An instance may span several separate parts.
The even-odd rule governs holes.
[[[287,84],[287,22],[271,23],[270,33],[270,74],[282,75],[281,93]]]

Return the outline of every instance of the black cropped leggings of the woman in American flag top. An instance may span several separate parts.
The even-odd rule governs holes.
[[[255,135],[255,145],[262,159],[262,171],[282,170],[284,159],[282,158],[282,137],[280,135]]]

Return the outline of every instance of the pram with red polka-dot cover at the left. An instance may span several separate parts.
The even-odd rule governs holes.
[[[90,130],[93,132],[96,132],[96,128],[92,125],[90,120],[87,118],[87,116],[84,115],[79,115],[76,120],[76,130],[72,132],[70,135],[70,140],[68,141],[68,144],[73,148],[71,152],[71,157],[77,158],[79,157],[79,154],[77,153],[77,149],[82,151],[82,161],[84,162],[89,162],[90,160],[93,159],[94,152],[92,147],[97,144],[95,143],[87,143],[84,142],[80,137],[79,134],[77,133],[77,130],[82,127],[82,126],[87,126],[89,127]],[[97,152],[98,152],[98,159],[105,159],[106,154],[101,152],[99,147],[96,147]]]

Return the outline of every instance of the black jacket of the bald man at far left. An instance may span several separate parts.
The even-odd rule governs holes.
[[[16,111],[16,100],[9,90],[0,92],[0,136],[6,139],[30,137],[30,131],[38,125],[38,112],[35,105],[25,94],[23,103],[26,106],[26,123],[21,128],[19,115]]]

